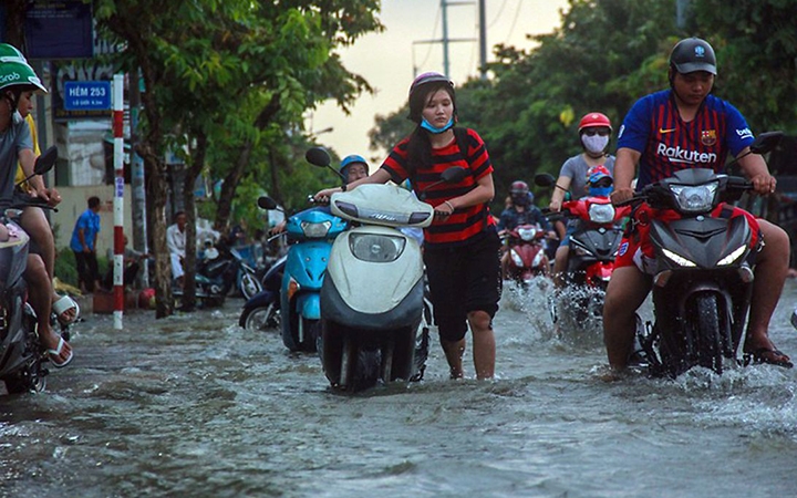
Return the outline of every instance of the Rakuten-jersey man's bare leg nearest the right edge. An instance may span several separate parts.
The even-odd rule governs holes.
[[[778,226],[758,220],[764,235],[765,246],[758,255],[753,282],[749,322],[744,351],[759,349],[774,350],[769,340],[769,320],[772,319],[788,272],[789,239]],[[789,360],[788,356],[786,360]]]

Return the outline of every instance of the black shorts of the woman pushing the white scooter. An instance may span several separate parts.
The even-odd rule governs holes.
[[[472,311],[495,317],[501,294],[500,239],[495,230],[464,246],[427,247],[424,262],[441,339],[463,339]]]

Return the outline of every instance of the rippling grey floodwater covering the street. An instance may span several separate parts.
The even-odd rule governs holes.
[[[772,330],[793,357],[795,298]],[[423,382],[340,395],[241,304],[86,315],[46,392],[0,398],[0,496],[797,495],[797,369],[604,382],[597,330],[558,338],[540,292],[508,290],[497,380],[449,381],[435,341]]]

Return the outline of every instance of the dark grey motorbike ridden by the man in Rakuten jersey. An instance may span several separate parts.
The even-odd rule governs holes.
[[[762,134],[751,152],[769,152],[782,136]],[[651,374],[675,377],[697,365],[721,374],[737,363],[754,280],[753,234],[744,217],[710,214],[752,188],[741,177],[684,169],[646,186],[629,201],[645,200],[681,216],[650,220],[655,321],[652,328],[641,328],[638,339]]]

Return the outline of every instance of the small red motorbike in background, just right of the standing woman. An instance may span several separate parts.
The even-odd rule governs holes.
[[[505,238],[509,261],[508,279],[528,284],[535,277],[548,276],[550,263],[545,251],[546,230],[539,225],[519,225],[508,230]]]

